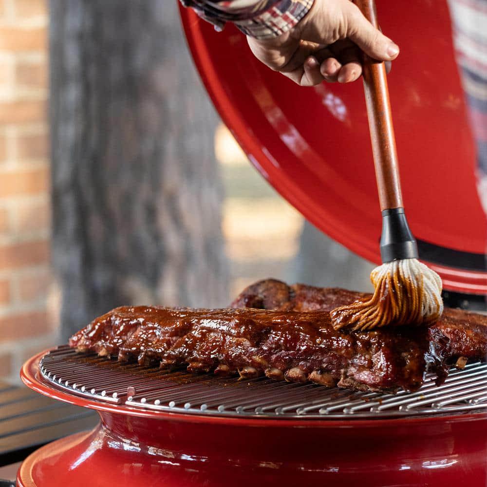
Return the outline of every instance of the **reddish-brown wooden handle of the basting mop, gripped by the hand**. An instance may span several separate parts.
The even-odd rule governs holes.
[[[354,3],[378,28],[375,0],[354,0]],[[403,206],[401,183],[384,63],[364,55],[363,82],[380,209],[400,208]]]

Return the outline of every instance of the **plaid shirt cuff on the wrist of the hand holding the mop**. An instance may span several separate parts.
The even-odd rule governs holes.
[[[203,19],[222,30],[233,22],[245,35],[257,39],[280,36],[292,29],[309,11],[314,0],[181,0]]]

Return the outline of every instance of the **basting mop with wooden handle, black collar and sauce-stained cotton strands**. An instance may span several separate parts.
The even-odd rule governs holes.
[[[354,3],[377,28],[375,1]],[[372,298],[336,308],[332,324],[335,329],[365,331],[389,324],[429,323],[443,312],[442,283],[436,272],[417,260],[417,244],[404,212],[384,63],[364,55],[363,83],[382,211],[383,263],[371,273]]]

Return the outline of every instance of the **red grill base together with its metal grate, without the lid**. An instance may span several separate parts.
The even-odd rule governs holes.
[[[487,364],[417,393],[356,393],[122,364],[59,347],[21,373],[95,409],[94,431],[46,445],[19,486],[484,486]]]

